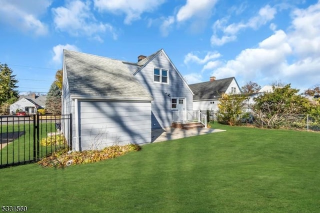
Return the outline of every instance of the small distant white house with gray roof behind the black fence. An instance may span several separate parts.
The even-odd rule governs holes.
[[[36,113],[36,110],[45,107],[46,96],[20,95],[19,100],[10,105],[10,114],[14,114],[16,110],[24,110],[29,114]]]

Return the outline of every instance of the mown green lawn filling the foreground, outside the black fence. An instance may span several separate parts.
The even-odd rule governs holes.
[[[227,131],[64,169],[0,169],[0,203],[29,212],[319,211],[319,133],[212,127]]]

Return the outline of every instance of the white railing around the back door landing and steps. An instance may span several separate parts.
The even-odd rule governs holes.
[[[200,110],[186,111],[186,116],[183,111],[172,111],[172,122],[185,123],[186,121],[201,122],[206,127],[206,114]]]

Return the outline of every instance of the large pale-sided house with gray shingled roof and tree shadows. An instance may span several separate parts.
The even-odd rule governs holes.
[[[63,50],[62,114],[72,114],[72,149],[151,141],[193,93],[163,49],[137,62]]]

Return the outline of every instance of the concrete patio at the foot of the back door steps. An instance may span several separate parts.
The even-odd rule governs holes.
[[[160,142],[165,140],[173,140],[184,137],[191,137],[195,135],[208,134],[213,132],[225,131],[222,129],[213,128],[193,128],[193,129],[180,129],[180,128],[159,128],[151,131],[152,141]]]

